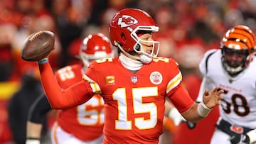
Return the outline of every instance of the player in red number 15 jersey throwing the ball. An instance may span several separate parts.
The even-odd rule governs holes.
[[[77,106],[100,94],[105,102],[103,143],[159,143],[167,99],[186,120],[197,122],[223,99],[218,87],[204,92],[196,104],[181,84],[178,64],[157,57],[159,31],[153,18],[139,9],[122,9],[110,21],[110,41],[119,57],[90,63],[83,80],[61,89],[48,58],[38,61],[41,82],[53,109]]]

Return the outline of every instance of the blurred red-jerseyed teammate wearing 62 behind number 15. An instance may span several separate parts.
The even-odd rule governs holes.
[[[58,84],[63,89],[80,82],[82,74],[92,60],[114,57],[110,40],[102,33],[88,35],[82,40],[79,64],[69,65],[55,72]],[[51,110],[45,94],[38,97],[28,117],[26,144],[39,144],[41,137],[41,117]],[[104,101],[95,94],[90,101],[79,106],[58,111],[52,128],[52,143],[102,143],[104,135]]]

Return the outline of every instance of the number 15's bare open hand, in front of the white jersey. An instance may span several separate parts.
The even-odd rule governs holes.
[[[203,104],[205,104],[208,109],[213,109],[215,106],[218,106],[220,104],[220,100],[223,99],[223,96],[220,96],[223,92],[223,89],[219,90],[218,87],[214,87],[210,92],[206,89],[203,94]]]

